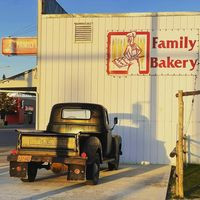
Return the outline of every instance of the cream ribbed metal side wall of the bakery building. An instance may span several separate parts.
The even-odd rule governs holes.
[[[74,42],[74,23],[93,23],[93,42]],[[39,128],[45,129],[58,102],[103,104],[118,116],[115,132],[123,138],[122,161],[169,163],[177,137],[179,89],[194,90],[195,76],[109,76],[106,73],[109,31],[199,29],[200,16],[66,17],[42,16]],[[197,89],[198,81],[197,81]],[[190,134],[189,161],[200,162],[199,101],[185,98],[185,124]],[[190,123],[189,123],[190,122]],[[189,126],[188,126],[189,124]]]

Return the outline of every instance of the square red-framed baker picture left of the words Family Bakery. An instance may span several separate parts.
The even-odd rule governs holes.
[[[149,73],[149,32],[110,32],[108,34],[108,74]]]

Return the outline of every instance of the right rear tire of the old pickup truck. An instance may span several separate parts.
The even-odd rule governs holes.
[[[99,171],[100,171],[100,157],[96,153],[95,160],[92,164],[87,165],[86,168],[86,179],[93,185],[97,185],[99,182]]]

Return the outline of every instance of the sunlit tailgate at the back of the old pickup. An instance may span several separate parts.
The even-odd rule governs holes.
[[[31,155],[79,156],[78,134],[18,130],[18,152]]]

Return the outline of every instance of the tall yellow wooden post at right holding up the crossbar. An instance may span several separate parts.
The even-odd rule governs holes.
[[[178,186],[179,186],[179,197],[184,197],[183,192],[183,113],[184,113],[184,103],[183,103],[183,91],[178,92],[178,104],[179,104],[179,128],[178,128]]]

